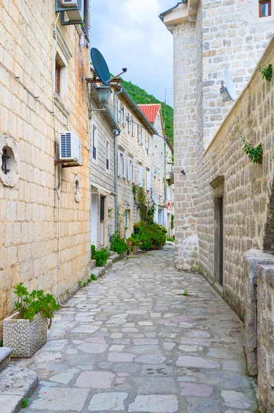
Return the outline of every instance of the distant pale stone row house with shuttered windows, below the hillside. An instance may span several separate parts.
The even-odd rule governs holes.
[[[132,184],[145,187],[147,199],[156,204],[155,221],[167,226],[165,165],[167,157],[171,157],[171,149],[167,149],[160,105],[154,118],[156,123],[158,117],[158,123],[154,125],[143,106],[136,105],[123,87],[112,88],[114,114],[121,129],[117,136],[117,222],[121,234],[129,237],[134,223],[140,220]]]

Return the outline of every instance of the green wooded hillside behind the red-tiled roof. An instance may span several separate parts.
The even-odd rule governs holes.
[[[122,80],[122,85],[127,90],[127,93],[133,98],[133,100],[137,103],[137,105],[144,105],[146,103],[160,103],[162,106],[162,117],[165,121],[165,113],[166,113],[166,122],[165,122],[165,133],[173,143],[173,107],[167,105],[166,112],[165,112],[165,103],[161,102],[160,100],[154,98],[153,95],[148,94],[145,92],[144,89],[141,89],[134,83],[127,82]]]

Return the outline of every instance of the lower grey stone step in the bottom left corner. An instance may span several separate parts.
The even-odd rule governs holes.
[[[32,396],[38,375],[32,370],[8,366],[0,373],[0,413],[18,413],[23,399]]]

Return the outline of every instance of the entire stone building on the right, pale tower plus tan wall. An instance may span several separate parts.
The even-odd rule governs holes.
[[[244,321],[262,411],[274,409],[274,123],[273,81],[257,63],[274,64],[271,6],[189,0],[160,16],[174,45],[176,266],[202,273]],[[220,94],[224,67],[235,103]],[[262,164],[244,153],[238,127],[262,144]]]

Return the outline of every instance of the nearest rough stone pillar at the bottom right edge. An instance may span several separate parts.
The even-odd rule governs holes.
[[[274,266],[257,268],[257,341],[259,404],[274,411]]]

